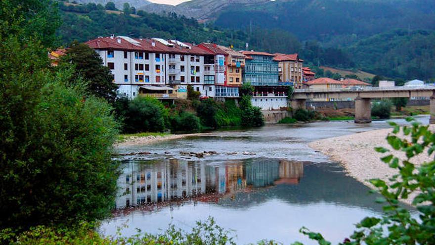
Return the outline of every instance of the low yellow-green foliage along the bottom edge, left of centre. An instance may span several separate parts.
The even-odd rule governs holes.
[[[75,229],[37,226],[16,236],[10,230],[0,231],[0,243],[11,245],[235,245],[230,231],[218,226],[213,218],[196,222],[190,232],[170,225],[161,234],[139,233],[132,237],[104,237],[88,223]]]

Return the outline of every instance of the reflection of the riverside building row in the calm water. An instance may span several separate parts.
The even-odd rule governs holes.
[[[219,197],[253,188],[298,184],[304,163],[277,159],[228,161],[217,165],[177,159],[126,163],[118,179],[117,208]]]

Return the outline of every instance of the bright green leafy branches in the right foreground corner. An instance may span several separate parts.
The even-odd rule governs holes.
[[[392,149],[405,153],[406,159],[400,160],[393,154],[381,158],[398,172],[390,179],[391,184],[380,179],[370,180],[376,192],[382,195],[376,202],[385,204],[384,214],[382,217],[366,217],[359,222],[357,230],[344,243],[346,245],[435,244],[435,160],[420,165],[412,162],[413,157],[419,154],[427,153],[433,157],[435,133],[429,130],[429,126],[417,122],[412,122],[411,127],[402,128],[395,123],[390,124],[394,130],[388,135],[387,141]],[[404,138],[401,138],[401,133]],[[390,152],[383,147],[377,147],[376,151]],[[413,197],[412,205],[418,210],[418,218],[399,203],[399,198],[409,197]],[[301,232],[316,240],[319,245],[331,244],[319,233],[310,232],[306,228],[302,228]]]

